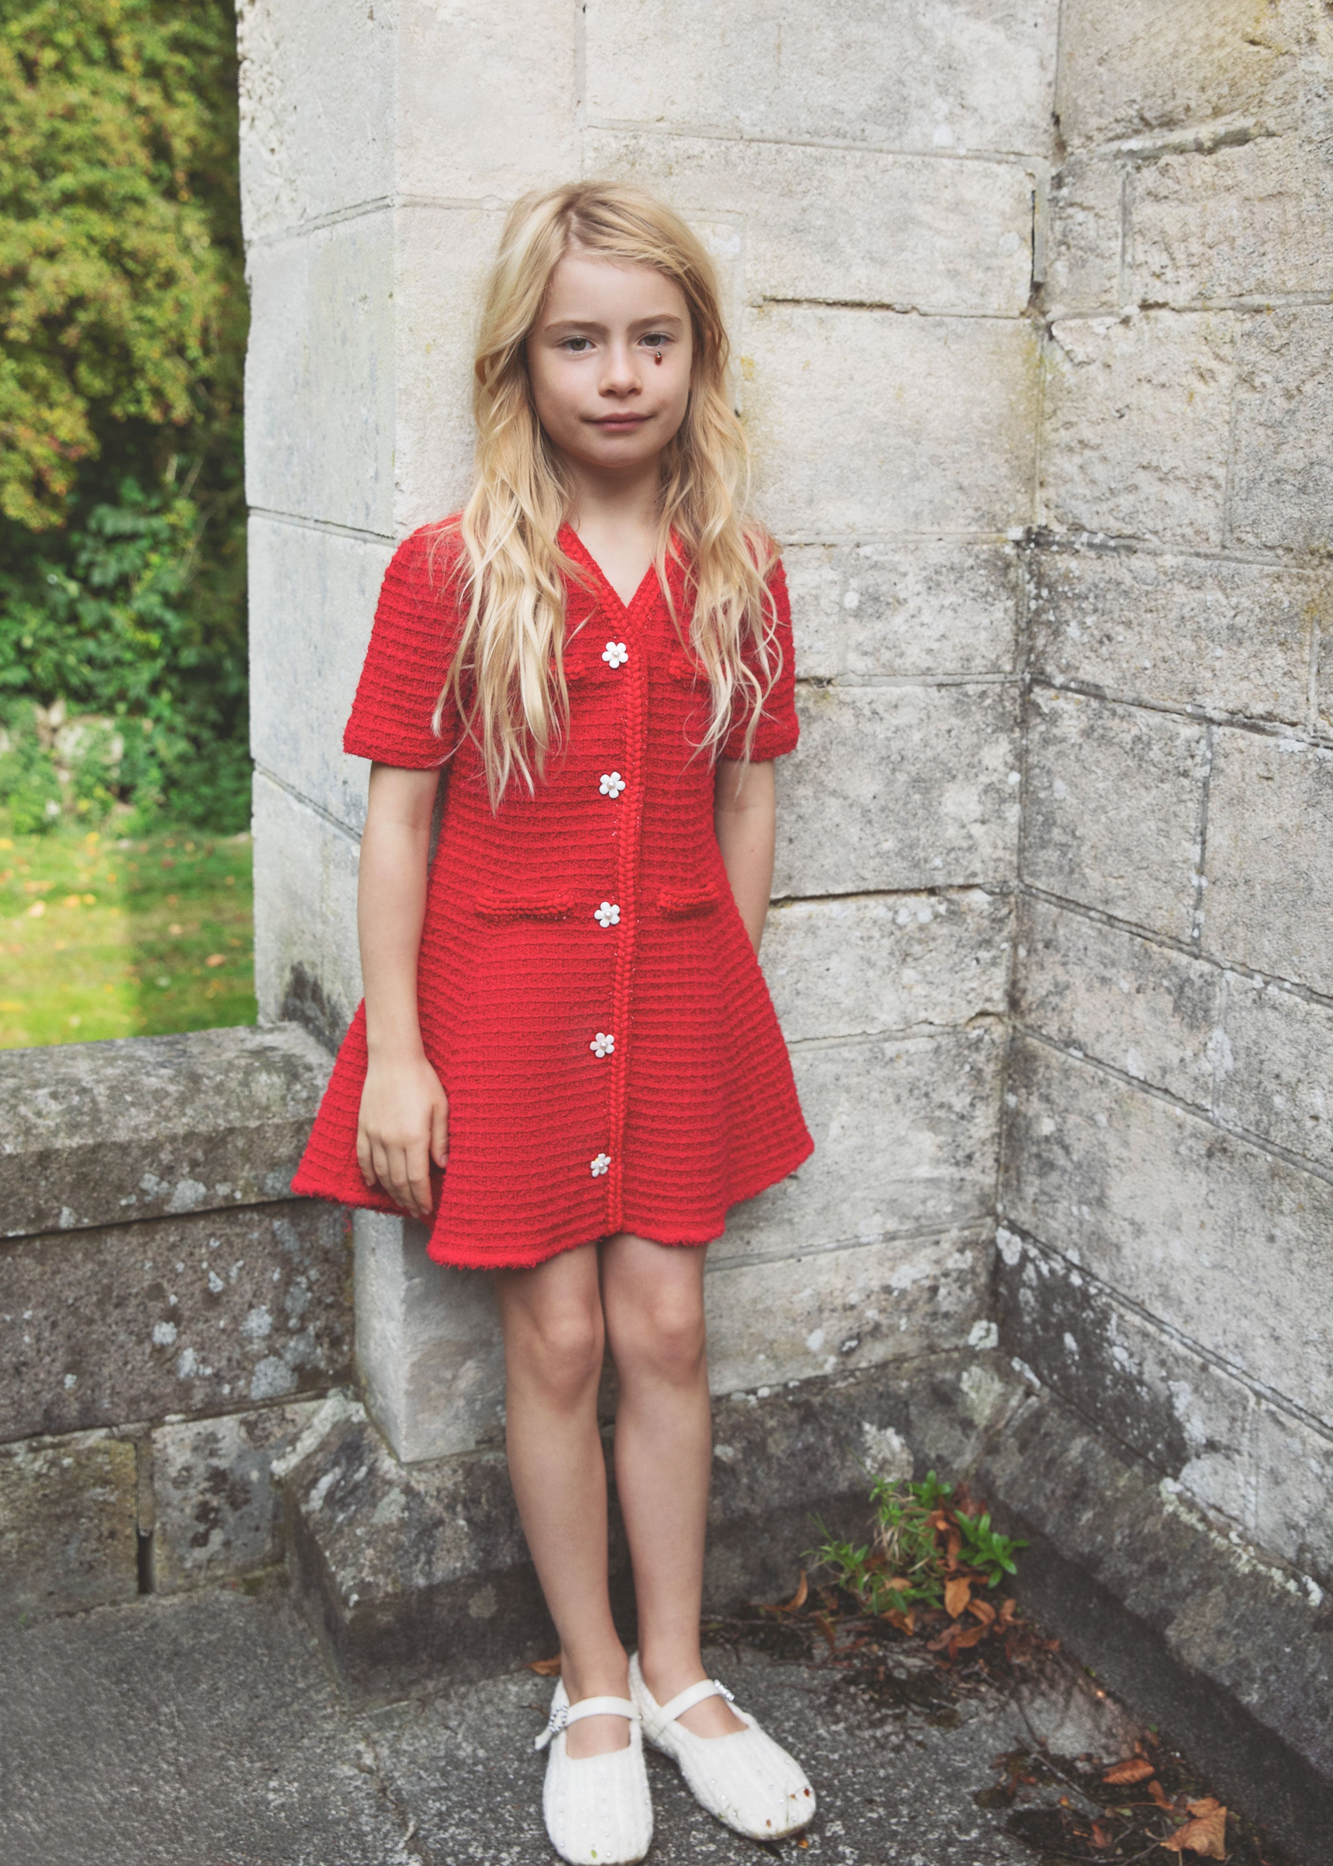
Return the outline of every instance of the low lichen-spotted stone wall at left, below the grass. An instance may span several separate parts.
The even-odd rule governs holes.
[[[347,1224],[288,1185],[329,1058],[207,1030],[0,1058],[0,1603],[280,1560],[269,1463],[351,1377]]]

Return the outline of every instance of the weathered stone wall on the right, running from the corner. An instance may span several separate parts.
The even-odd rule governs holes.
[[[1333,13],[1066,0],[1001,1330],[1333,1581]]]

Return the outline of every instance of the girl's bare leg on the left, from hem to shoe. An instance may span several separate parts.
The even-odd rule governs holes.
[[[504,1325],[510,1478],[523,1532],[560,1635],[569,1702],[629,1692],[629,1663],[607,1595],[607,1467],[597,1433],[603,1319],[597,1246],[495,1276]],[[629,1741],[620,1717],[586,1717],[569,1756]]]

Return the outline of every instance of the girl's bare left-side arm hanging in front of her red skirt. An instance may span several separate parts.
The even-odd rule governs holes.
[[[431,1209],[429,1163],[448,1159],[448,1101],[426,1060],[416,1019],[416,955],[439,771],[370,767],[360,838],[357,931],[370,1064],[357,1123],[357,1163],[407,1211]]]

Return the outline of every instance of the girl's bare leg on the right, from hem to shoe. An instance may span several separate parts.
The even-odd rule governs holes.
[[[704,1250],[622,1232],[601,1246],[603,1310],[620,1375],[616,1489],[629,1534],[644,1683],[666,1704],[708,1678],[698,1648],[713,1420],[704,1353]],[[745,1726],[724,1698],[681,1724],[702,1737]]]

